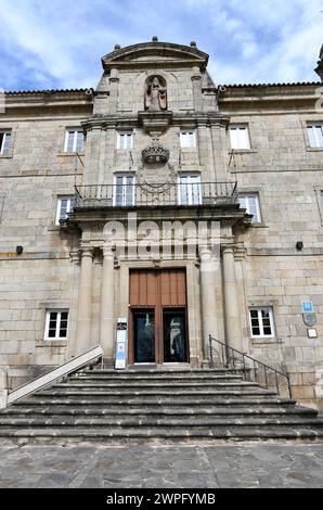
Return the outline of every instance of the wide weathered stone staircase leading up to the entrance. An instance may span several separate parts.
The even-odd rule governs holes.
[[[316,415],[233,371],[87,369],[1,411],[0,441],[322,441]]]

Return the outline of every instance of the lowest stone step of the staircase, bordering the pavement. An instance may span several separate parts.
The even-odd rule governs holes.
[[[114,443],[121,441],[122,443],[142,441],[147,444],[153,441],[154,444],[160,441],[162,444],[181,442],[194,442],[198,439],[234,439],[234,441],[271,441],[271,439],[289,439],[289,441],[322,441],[323,429],[316,430],[314,428],[305,425],[267,425],[267,426],[253,426],[248,425],[242,428],[238,425],[232,426],[204,426],[204,428],[109,428],[101,430],[89,430],[89,428],[43,428],[43,429],[17,429],[12,428],[1,429],[0,438],[9,439],[9,442],[28,441],[33,439],[37,443],[54,444],[55,439],[61,442],[72,439],[76,442],[100,442]]]

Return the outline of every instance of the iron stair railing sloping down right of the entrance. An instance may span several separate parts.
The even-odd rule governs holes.
[[[214,343],[218,348],[215,348]],[[244,381],[258,382],[277,395],[292,398],[290,380],[287,373],[270,367],[209,335],[210,368],[240,370]],[[216,358],[216,361],[215,361]]]

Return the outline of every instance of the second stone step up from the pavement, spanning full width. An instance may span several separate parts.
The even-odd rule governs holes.
[[[14,426],[14,428],[43,428],[43,426],[90,426],[91,430],[101,428],[141,428],[151,426],[152,430],[159,426],[165,428],[210,428],[210,426],[267,426],[267,425],[299,425],[299,426],[322,426],[323,420],[311,417],[164,417],[156,418],[151,416],[143,417],[118,417],[116,420],[112,417],[29,417],[29,418],[12,418],[9,416],[0,417],[0,430]]]

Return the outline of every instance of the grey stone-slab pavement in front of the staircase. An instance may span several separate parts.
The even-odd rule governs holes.
[[[323,445],[2,446],[0,487],[323,487]]]

